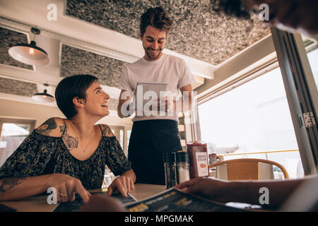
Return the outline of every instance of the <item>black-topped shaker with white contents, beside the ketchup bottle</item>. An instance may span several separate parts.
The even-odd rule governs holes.
[[[189,153],[177,152],[177,184],[187,182],[190,179]]]

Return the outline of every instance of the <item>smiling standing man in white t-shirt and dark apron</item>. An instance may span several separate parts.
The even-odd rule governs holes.
[[[172,28],[172,20],[163,8],[148,8],[142,14],[140,23],[140,39],[144,56],[124,67],[119,82],[120,94],[117,112],[119,117],[125,114],[126,105],[130,101],[126,91],[136,91],[137,83],[167,83],[168,91],[177,99],[179,91],[183,99],[191,105],[192,83],[194,78],[183,59],[163,53],[167,36]],[[189,98],[189,99],[188,99]],[[182,150],[178,131],[177,101],[167,98],[155,102],[160,105],[160,114],[136,114],[129,140],[128,157],[136,173],[138,183],[165,184],[163,153]],[[126,102],[126,103],[125,103]],[[179,101],[179,102],[182,102]],[[161,108],[163,106],[163,108]],[[183,106],[183,105],[182,105]],[[130,106],[131,107],[131,106]],[[190,106],[187,106],[190,109]],[[184,110],[184,109],[179,109]],[[143,111],[141,111],[143,112]],[[172,112],[172,114],[168,114]],[[163,113],[163,114],[162,114]]]

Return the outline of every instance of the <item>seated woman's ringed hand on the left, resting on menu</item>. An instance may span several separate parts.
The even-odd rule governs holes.
[[[84,203],[88,203],[90,196],[92,196],[79,179],[71,177],[66,174],[51,174],[47,179],[47,186],[57,189],[57,202],[72,202],[75,200],[75,193],[77,192]]]

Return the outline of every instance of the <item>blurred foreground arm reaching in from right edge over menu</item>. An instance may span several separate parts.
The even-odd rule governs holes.
[[[196,194],[213,201],[240,202],[260,205],[259,189],[269,189],[269,207],[277,208],[304,182],[305,179],[316,178],[317,175],[304,179],[288,179],[284,181],[225,181],[208,177],[191,179],[175,186],[184,193]]]

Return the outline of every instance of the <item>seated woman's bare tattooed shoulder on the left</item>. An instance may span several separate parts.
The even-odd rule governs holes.
[[[61,137],[65,129],[66,124],[64,119],[53,117],[47,119],[47,121],[37,127],[35,131],[44,136]]]

